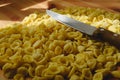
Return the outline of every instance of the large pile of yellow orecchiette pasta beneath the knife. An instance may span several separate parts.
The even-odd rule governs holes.
[[[120,34],[120,14],[75,7],[55,12]],[[120,79],[120,50],[61,24],[46,13],[32,13],[0,29],[0,68],[8,79]]]

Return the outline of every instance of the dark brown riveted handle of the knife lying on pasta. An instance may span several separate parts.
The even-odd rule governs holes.
[[[98,28],[94,34],[94,37],[102,39],[103,41],[109,42],[120,49],[120,35],[104,28]]]

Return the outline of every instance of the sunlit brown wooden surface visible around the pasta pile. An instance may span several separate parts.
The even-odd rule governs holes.
[[[21,21],[35,11],[68,6],[98,7],[113,12],[120,12],[120,0],[0,0],[0,27]],[[7,80],[0,72],[0,80]]]

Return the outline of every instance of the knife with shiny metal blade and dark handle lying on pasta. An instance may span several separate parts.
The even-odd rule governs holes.
[[[117,48],[120,48],[120,35],[117,33],[114,33],[101,27],[96,28],[94,26],[90,26],[86,23],[74,20],[72,18],[53,12],[51,10],[46,10],[46,13],[58,22],[65,24],[66,26],[70,26],[82,33],[85,33],[89,36],[93,36],[95,38],[99,38],[103,41],[109,42],[111,45],[114,45]]]

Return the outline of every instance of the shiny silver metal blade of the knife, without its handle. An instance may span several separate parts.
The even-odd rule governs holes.
[[[87,35],[93,35],[94,31],[97,30],[97,28],[93,27],[93,26],[90,26],[88,24],[85,24],[83,22],[80,22],[80,21],[77,21],[77,20],[74,20],[72,18],[69,18],[65,15],[61,15],[61,14],[58,14],[56,12],[53,12],[51,10],[46,10],[47,14],[49,16],[51,16],[52,18],[54,18],[55,20],[67,25],[67,26],[70,26],[82,33],[85,33]]]

